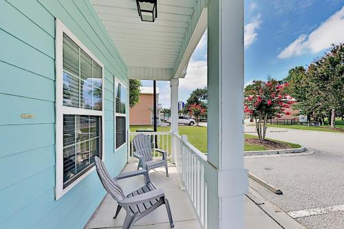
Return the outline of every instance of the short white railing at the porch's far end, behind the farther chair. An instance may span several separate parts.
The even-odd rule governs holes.
[[[167,159],[171,159],[171,132],[129,132],[129,147],[128,147],[128,156],[129,159],[133,158],[133,138],[143,133],[148,135],[151,138],[152,148],[162,149],[166,151]],[[161,157],[161,154],[158,151],[153,151],[153,157]]]

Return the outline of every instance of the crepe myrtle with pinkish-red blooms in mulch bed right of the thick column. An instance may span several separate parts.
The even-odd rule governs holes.
[[[286,109],[295,101],[286,94],[288,85],[274,79],[268,82],[255,80],[248,89],[245,89],[244,112],[255,119],[259,140],[265,140],[268,118],[290,115]]]

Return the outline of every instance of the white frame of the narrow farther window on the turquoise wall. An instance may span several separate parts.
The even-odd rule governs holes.
[[[125,98],[125,113],[117,113],[116,112],[116,83],[119,83],[121,87],[124,87],[125,90],[127,91],[126,94],[126,98]],[[128,138],[129,138],[129,134],[128,134],[128,126],[127,126],[127,113],[128,111],[128,98],[129,98],[129,91],[127,89],[127,86],[122,83],[121,80],[119,80],[118,78],[115,78],[115,82],[114,82],[114,149],[115,151],[120,150],[123,146],[125,146],[128,142]],[[123,142],[123,144],[121,144],[120,146],[116,147],[116,117],[125,117],[125,142]]]

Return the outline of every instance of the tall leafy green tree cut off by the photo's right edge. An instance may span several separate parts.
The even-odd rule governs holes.
[[[344,107],[344,44],[332,45],[324,56],[315,58],[299,85],[305,95],[297,104],[301,113],[322,122],[327,117],[335,127],[335,118]]]

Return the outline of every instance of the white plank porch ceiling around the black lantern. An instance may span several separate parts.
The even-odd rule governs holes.
[[[182,77],[177,69],[180,63],[182,68],[187,65],[182,58],[190,58],[184,56],[195,27],[190,25],[200,17],[196,0],[158,0],[158,17],[153,23],[141,21],[136,0],[91,1],[127,63],[129,78]],[[198,43],[200,38],[196,39]]]

